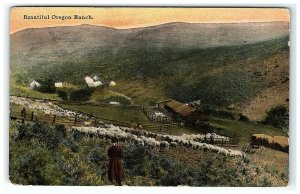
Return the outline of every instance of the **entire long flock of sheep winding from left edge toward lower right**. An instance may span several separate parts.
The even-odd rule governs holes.
[[[83,114],[78,114],[74,111],[65,110],[51,102],[44,102],[43,100],[31,100],[23,97],[10,97],[10,103],[20,106],[28,107],[32,110],[40,111],[44,114],[53,114],[64,117],[75,117],[77,115],[80,118],[87,117]],[[226,156],[240,156],[245,157],[244,153],[238,150],[225,149],[216,145],[203,143],[203,141],[228,142],[229,138],[215,133],[202,134],[183,134],[181,136],[164,135],[144,130],[138,130],[134,128],[115,126],[111,124],[99,123],[97,127],[84,126],[84,127],[72,127],[72,133],[79,133],[88,137],[99,137],[103,139],[111,139],[112,137],[118,137],[122,142],[133,142],[149,148],[165,148],[184,146],[192,149],[199,149],[204,151],[211,151],[220,153]]]

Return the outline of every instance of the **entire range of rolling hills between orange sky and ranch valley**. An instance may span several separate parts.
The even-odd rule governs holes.
[[[288,105],[288,36],[286,22],[26,29],[11,35],[11,74],[19,84],[97,74],[136,103],[200,99],[260,120]]]

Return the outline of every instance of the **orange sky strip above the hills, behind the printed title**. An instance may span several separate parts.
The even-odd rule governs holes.
[[[61,19],[24,19],[24,15],[71,16]],[[91,15],[93,19],[73,19]],[[10,33],[26,28],[90,24],[118,29],[153,26],[169,22],[240,23],[289,21],[289,10],[281,8],[103,8],[103,7],[14,7],[10,13]]]

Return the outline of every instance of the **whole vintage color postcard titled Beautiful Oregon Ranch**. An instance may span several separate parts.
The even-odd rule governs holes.
[[[282,187],[286,8],[13,7],[16,185]]]

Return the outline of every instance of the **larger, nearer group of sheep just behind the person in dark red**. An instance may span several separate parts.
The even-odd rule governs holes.
[[[204,135],[188,135],[181,136],[162,135],[158,133],[148,132],[144,130],[137,130],[128,127],[119,127],[115,125],[103,124],[98,127],[72,127],[72,133],[79,133],[86,137],[98,137],[102,139],[111,139],[117,137],[121,142],[132,142],[138,145],[146,146],[153,149],[168,149],[169,147],[184,146],[192,149],[199,149],[210,151],[214,153],[223,154],[226,156],[245,157],[245,154],[238,150],[225,149],[216,145],[201,143],[205,137]],[[210,137],[228,137],[219,136],[216,134],[207,134]]]

